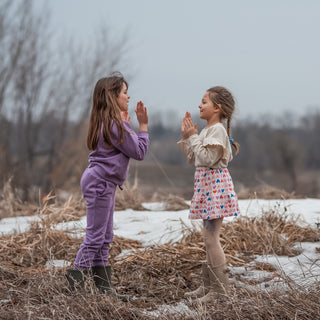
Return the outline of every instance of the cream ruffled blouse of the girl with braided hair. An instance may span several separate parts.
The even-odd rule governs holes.
[[[196,167],[226,168],[232,160],[229,137],[220,122],[204,128],[199,135],[178,141],[178,145],[187,161]]]

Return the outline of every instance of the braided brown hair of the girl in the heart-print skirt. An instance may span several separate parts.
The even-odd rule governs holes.
[[[222,118],[227,119],[227,133],[229,138],[231,138],[231,119],[235,109],[235,101],[231,92],[220,86],[212,87],[208,89],[207,92],[209,93],[209,97],[213,102],[213,105],[217,106],[221,110]],[[231,143],[237,154],[240,148],[239,143],[233,140]]]

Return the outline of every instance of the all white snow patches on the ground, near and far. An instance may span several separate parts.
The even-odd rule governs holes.
[[[290,200],[239,200],[242,215],[257,216],[263,212],[275,209],[290,215],[299,215],[300,223],[317,228],[320,222],[320,199],[290,199]],[[114,233],[117,236],[141,241],[143,245],[157,245],[167,242],[176,242],[183,236],[183,231],[189,227],[201,228],[201,221],[188,219],[188,210],[166,211],[163,203],[144,203],[148,211],[127,209],[116,211],[114,214]],[[228,223],[233,218],[225,218]],[[15,217],[0,220],[0,234],[10,234],[14,231],[24,232],[31,221],[39,220],[38,216]],[[75,236],[83,236],[86,226],[86,217],[79,221],[60,223],[57,228],[70,231]],[[257,256],[257,262],[268,262],[278,269],[278,273],[285,272],[297,283],[305,285],[320,280],[320,254],[316,248],[320,243],[298,243],[301,254],[296,257]],[[64,267],[66,261],[49,261],[48,267]],[[268,278],[265,272],[257,272],[247,268],[232,268],[234,274],[243,277]],[[263,281],[262,281],[263,282]]]

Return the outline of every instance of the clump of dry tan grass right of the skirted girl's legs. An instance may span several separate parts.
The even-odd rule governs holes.
[[[301,226],[299,217],[289,215],[284,209],[270,210],[256,217],[240,216],[234,223],[223,226],[221,242],[231,256],[277,254],[295,256],[300,252],[296,242],[320,241],[319,230]]]

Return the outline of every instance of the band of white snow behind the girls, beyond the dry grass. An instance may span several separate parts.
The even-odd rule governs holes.
[[[241,215],[262,215],[270,209],[286,212],[291,215],[300,215],[302,224],[316,228],[320,223],[320,199],[290,199],[290,200],[239,200]],[[135,239],[145,245],[162,244],[169,241],[179,241],[181,232],[186,227],[201,228],[198,220],[188,219],[188,210],[165,211],[165,205],[160,202],[144,203],[148,211],[135,211],[132,209],[116,211],[114,214],[114,233],[117,236]],[[224,222],[232,221],[232,217],[225,218]],[[29,223],[40,220],[39,216],[4,218],[0,220],[0,234],[10,234],[14,231],[24,232]],[[60,230],[73,230],[77,235],[83,236],[86,227],[86,217],[79,221],[58,224]]]

